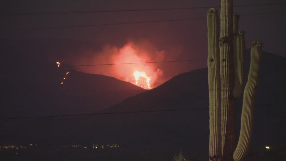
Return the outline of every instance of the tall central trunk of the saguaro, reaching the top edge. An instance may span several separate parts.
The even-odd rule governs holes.
[[[224,160],[232,160],[237,144],[233,67],[233,1],[221,0],[220,75],[221,136]]]

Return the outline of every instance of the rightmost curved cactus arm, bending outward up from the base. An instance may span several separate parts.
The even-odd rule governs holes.
[[[235,161],[241,161],[250,147],[255,95],[258,86],[258,74],[261,60],[261,42],[253,42],[247,84],[243,94],[243,107],[241,113],[241,129],[237,148],[233,153]]]

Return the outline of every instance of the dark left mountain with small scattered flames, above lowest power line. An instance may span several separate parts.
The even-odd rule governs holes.
[[[91,113],[145,91],[113,77],[41,65],[5,76],[2,117]]]

